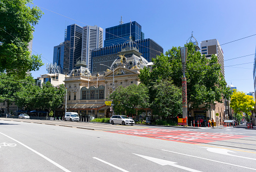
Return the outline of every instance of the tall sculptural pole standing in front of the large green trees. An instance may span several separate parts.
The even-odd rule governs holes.
[[[186,61],[187,61],[187,47],[180,48],[181,64],[182,64],[182,118],[187,119],[187,79],[186,73]]]

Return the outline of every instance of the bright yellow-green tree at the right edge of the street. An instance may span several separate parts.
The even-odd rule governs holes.
[[[241,115],[242,112],[248,113],[253,110],[254,105],[255,101],[253,100],[253,96],[246,95],[244,92],[237,91],[236,89],[233,90],[230,107],[234,110],[235,119],[237,119],[237,116]]]

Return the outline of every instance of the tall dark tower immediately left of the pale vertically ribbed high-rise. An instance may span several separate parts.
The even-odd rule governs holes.
[[[76,61],[81,58],[82,31],[83,28],[77,24],[69,25],[67,27],[67,37],[65,37],[65,40],[70,41],[69,72],[75,67]]]

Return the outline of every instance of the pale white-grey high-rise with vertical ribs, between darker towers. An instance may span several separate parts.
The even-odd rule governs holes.
[[[82,33],[82,60],[91,70],[91,50],[103,47],[103,29],[98,26],[84,26]]]

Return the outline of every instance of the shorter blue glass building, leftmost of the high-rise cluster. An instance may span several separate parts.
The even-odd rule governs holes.
[[[62,42],[60,45],[54,47],[54,60],[60,67],[61,74],[69,73],[69,53],[70,53],[70,42],[68,40]]]

